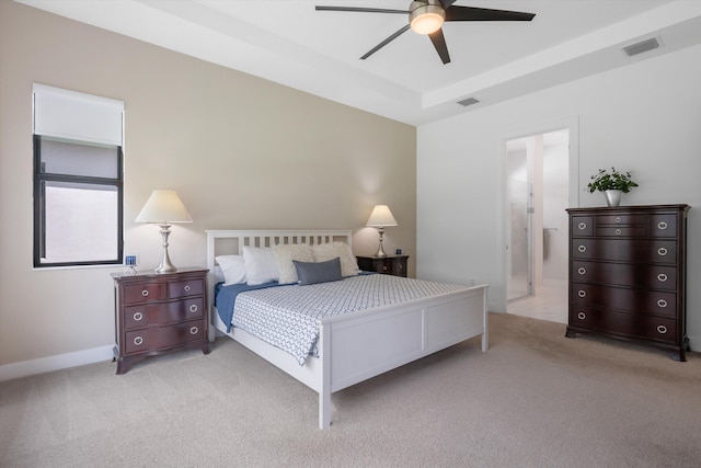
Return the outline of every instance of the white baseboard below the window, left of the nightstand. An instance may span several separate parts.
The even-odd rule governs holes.
[[[0,366],[0,381],[112,359],[113,345]],[[116,369],[116,368],[115,368]]]

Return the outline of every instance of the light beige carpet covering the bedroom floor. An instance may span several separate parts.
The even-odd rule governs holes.
[[[317,395],[229,339],[115,375],[111,362],[0,384],[2,467],[699,467],[701,356],[491,317],[470,340]]]

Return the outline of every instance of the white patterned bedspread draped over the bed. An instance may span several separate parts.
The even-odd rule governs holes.
[[[372,274],[309,286],[256,289],[239,294],[232,324],[291,354],[303,365],[307,356],[318,354],[319,319],[466,288]]]

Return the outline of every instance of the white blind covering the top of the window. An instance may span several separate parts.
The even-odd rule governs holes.
[[[124,102],[34,84],[34,135],[122,145]]]

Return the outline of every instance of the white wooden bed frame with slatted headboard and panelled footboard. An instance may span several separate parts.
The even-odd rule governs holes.
[[[436,351],[482,335],[489,346],[486,285],[402,305],[387,306],[319,320],[319,358],[303,366],[290,354],[221,321],[214,307],[215,256],[240,254],[243,246],[318,244],[343,241],[340,230],[207,230],[209,304],[214,329],[258,354],[319,393],[319,427],[331,425],[331,393],[416,361]],[[210,340],[214,340],[210,328]]]

